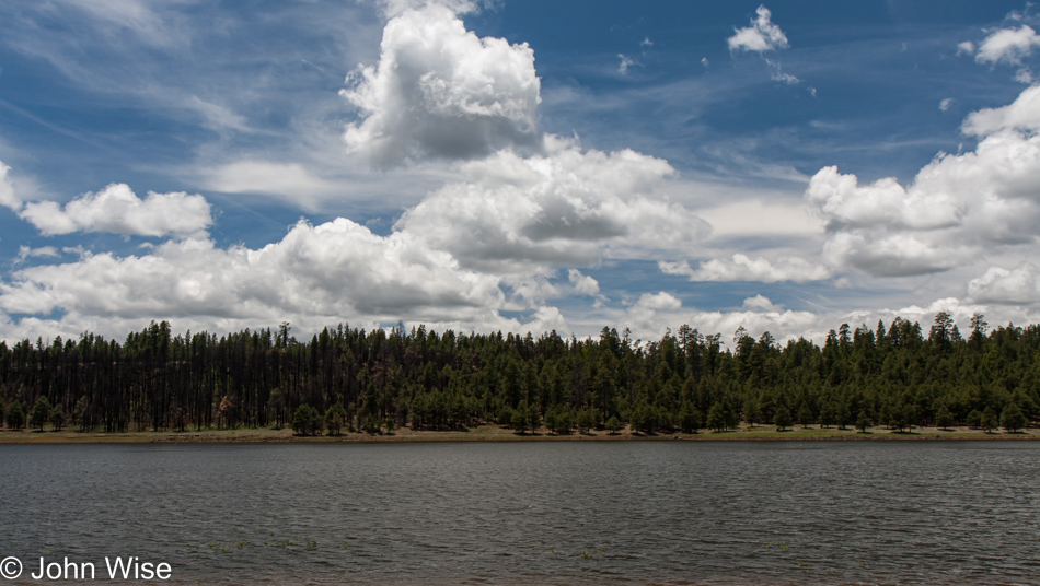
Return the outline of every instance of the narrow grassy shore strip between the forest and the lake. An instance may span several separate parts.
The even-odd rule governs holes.
[[[821,429],[819,425],[808,427],[796,426],[791,430],[777,432],[772,425],[756,425],[750,429],[747,425],[739,430],[723,433],[702,431],[697,434],[670,433],[644,435],[624,430],[616,434],[605,431],[593,431],[587,434],[553,435],[544,430],[539,433],[518,434],[508,427],[498,425],[481,425],[470,430],[459,431],[414,431],[409,427],[395,430],[393,433],[345,433],[340,436],[300,436],[289,429],[274,430],[269,427],[235,430],[199,430],[185,432],[78,432],[62,430],[60,432],[46,430],[2,430],[0,444],[135,444],[135,443],[336,443],[336,442],[586,442],[586,441],[920,441],[920,440],[1040,440],[1040,429],[1030,429],[1018,433],[1004,431],[985,433],[982,430],[967,427],[950,427],[938,430],[935,427],[914,427],[912,433],[898,433],[882,427],[875,427],[868,433],[855,430],[839,430],[836,427]]]

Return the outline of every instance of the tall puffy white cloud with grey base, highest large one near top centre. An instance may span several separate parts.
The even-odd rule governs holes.
[[[362,119],[347,125],[344,139],[375,167],[541,149],[534,51],[477,37],[443,5],[395,15],[379,63],[359,67],[348,81],[340,95]]]

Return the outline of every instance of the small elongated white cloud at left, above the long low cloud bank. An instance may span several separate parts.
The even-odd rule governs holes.
[[[183,236],[203,232],[212,223],[209,202],[203,196],[149,192],[141,200],[126,184],[85,194],[63,209],[54,201],[30,202],[19,215],[47,236],[72,232]]]

